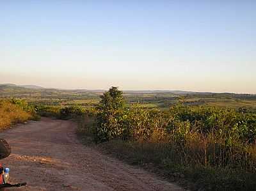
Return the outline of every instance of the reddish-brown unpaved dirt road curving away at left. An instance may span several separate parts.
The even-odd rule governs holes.
[[[12,155],[1,163],[13,183],[28,183],[10,190],[182,190],[80,144],[75,130],[72,121],[42,118],[2,132]]]

